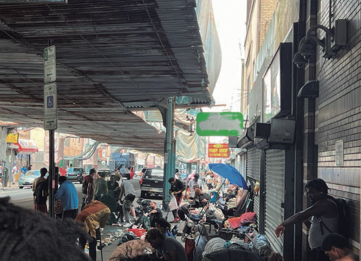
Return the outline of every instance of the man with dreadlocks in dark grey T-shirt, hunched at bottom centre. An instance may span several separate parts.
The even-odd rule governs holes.
[[[188,260],[186,250],[176,239],[165,236],[159,229],[153,228],[147,231],[145,241],[157,249],[157,252],[164,255],[166,261]]]

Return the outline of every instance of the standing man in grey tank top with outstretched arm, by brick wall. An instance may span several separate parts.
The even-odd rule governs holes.
[[[329,257],[322,251],[321,245],[323,239],[326,238],[330,232],[327,229],[321,229],[321,226],[327,226],[330,231],[338,232],[338,208],[333,198],[328,195],[329,187],[322,179],[312,179],[306,184],[306,191],[312,203],[309,208],[293,215],[292,217],[283,221],[275,230],[277,237],[282,235],[286,227],[293,226],[297,222],[304,222],[310,229],[308,243],[311,251],[309,253],[309,261],[329,261]],[[323,222],[319,221],[317,217]],[[311,221],[309,221],[311,218]]]

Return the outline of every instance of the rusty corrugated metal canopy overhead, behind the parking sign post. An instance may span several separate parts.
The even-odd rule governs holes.
[[[43,126],[43,49],[51,39],[57,131],[162,153],[164,133],[130,109],[179,95],[211,102],[194,7],[194,0],[0,4],[0,119]]]

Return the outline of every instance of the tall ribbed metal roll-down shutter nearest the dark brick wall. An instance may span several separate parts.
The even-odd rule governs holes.
[[[282,149],[269,149],[265,160],[265,234],[274,251],[283,254],[283,239],[274,234],[284,220],[284,158]]]

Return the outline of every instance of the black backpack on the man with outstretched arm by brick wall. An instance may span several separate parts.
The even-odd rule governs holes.
[[[341,199],[341,198],[335,199],[332,196],[329,196],[328,198],[331,199],[332,201],[334,201],[335,204],[337,205],[338,216],[339,216],[338,234],[343,235],[345,238],[348,238],[348,221],[347,221],[347,216],[346,216],[346,208],[347,208],[346,200]],[[316,218],[318,219],[318,221],[321,225],[320,226],[321,235],[324,234],[323,227],[325,227],[325,229],[327,231],[332,233],[332,231],[325,225],[325,223],[322,222],[321,216],[316,216]]]

